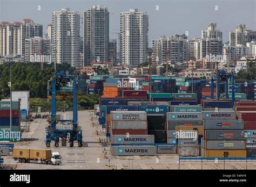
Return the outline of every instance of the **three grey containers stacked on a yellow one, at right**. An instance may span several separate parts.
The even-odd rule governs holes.
[[[225,118],[222,120],[204,120],[204,140],[201,155],[213,158],[246,157],[244,121],[226,120],[229,117],[226,114],[223,116]]]

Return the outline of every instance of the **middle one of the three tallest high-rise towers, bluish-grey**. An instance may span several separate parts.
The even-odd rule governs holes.
[[[106,6],[94,5],[84,11],[84,66],[95,60],[109,60],[109,11]]]

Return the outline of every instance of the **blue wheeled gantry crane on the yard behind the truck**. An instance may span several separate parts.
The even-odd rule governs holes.
[[[75,73],[72,76],[60,71],[60,73],[55,73],[51,82],[51,120],[45,130],[46,146],[50,147],[51,141],[54,141],[55,147],[58,147],[59,140],[62,140],[62,145],[66,145],[66,141],[69,141],[70,147],[73,147],[73,142],[77,141],[78,147],[82,147],[83,135],[77,121],[77,77]],[[63,94],[68,98],[71,98],[71,95],[73,97],[73,118],[69,120],[56,119],[57,96]]]

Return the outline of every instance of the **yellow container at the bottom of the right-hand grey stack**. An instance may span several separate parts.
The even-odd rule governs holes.
[[[206,150],[204,149],[204,156],[207,158],[242,158],[246,157],[246,149],[244,150]]]

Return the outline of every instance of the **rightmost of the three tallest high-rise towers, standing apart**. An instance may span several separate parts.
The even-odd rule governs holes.
[[[138,66],[147,60],[149,17],[130,9],[120,14],[120,62]]]

